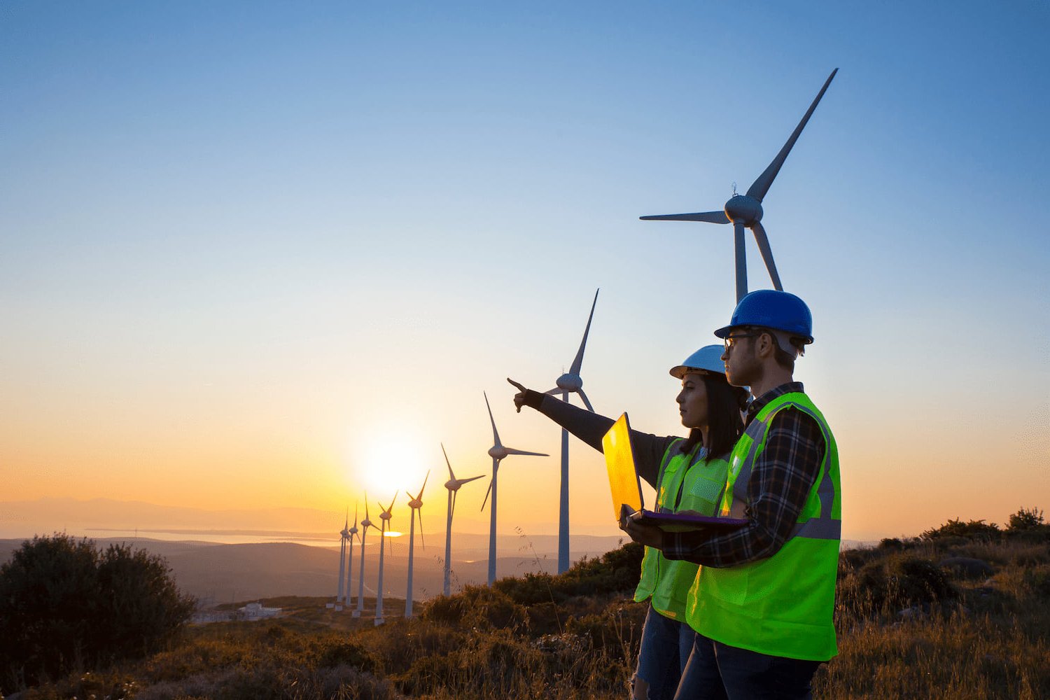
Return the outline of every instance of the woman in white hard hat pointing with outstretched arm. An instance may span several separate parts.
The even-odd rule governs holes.
[[[631,431],[631,446],[638,475],[656,489],[656,510],[691,511],[714,515],[726,485],[727,458],[743,428],[740,411],[748,391],[730,386],[722,364],[722,345],[696,351],[671,376],[681,380],[675,399],[689,438]],[[594,449],[612,419],[576,408],[552,396],[527,389],[507,379],[519,393],[514,406],[529,406],[551,419]],[[650,602],[642,631],[637,671],[631,681],[634,698],[670,700],[693,648],[694,633],[686,622],[686,594],[696,578],[697,566],[670,561],[647,547],[642,580],[634,599]]]

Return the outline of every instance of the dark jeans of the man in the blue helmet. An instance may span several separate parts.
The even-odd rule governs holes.
[[[674,700],[810,700],[821,663],[759,654],[698,634]]]

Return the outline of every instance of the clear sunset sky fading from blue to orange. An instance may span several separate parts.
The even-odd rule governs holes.
[[[341,512],[433,468],[439,529],[487,391],[551,454],[503,463],[500,531],[554,532],[560,433],[504,378],[550,388],[601,288],[588,397],[685,434],[732,230],[638,216],[746,191],[838,67],[763,225],[843,536],[1050,509],[1048,36],[1046,0],[4,2],[0,502]]]

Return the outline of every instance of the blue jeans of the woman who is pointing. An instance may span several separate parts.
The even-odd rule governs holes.
[[[693,650],[695,635],[686,622],[665,617],[649,606],[646,623],[642,628],[638,669],[631,681],[635,698],[671,700],[674,697],[681,670],[686,667]]]

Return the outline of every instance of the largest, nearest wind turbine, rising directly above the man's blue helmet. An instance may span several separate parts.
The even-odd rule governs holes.
[[[792,147],[798,141],[799,134],[805,128],[806,122],[810,121],[813,110],[817,108],[817,103],[824,97],[824,91],[832,84],[832,79],[835,78],[835,73],[838,71],[838,68],[833,70],[832,75],[824,81],[824,86],[820,88],[820,92],[817,93],[817,98],[810,105],[810,109],[806,110],[805,115],[802,116],[802,121],[795,127],[795,131],[788,139],[788,143],[780,149],[777,156],[773,158],[773,163],[748,188],[747,194],[737,194],[736,187],[734,186],[733,196],[726,203],[722,211],[697,212],[694,214],[660,214],[658,216],[639,217],[647,221],[707,221],[708,224],[729,224],[732,221],[733,240],[736,249],[736,300],[738,303],[748,294],[748,261],[743,249],[744,228],[751,229],[755,234],[755,241],[758,243],[758,250],[762,254],[765,269],[770,272],[770,279],[773,280],[773,287],[777,290],[783,290],[783,285],[780,283],[780,275],[777,274],[777,267],[773,262],[773,251],[770,249],[770,239],[765,235],[765,229],[762,228],[760,222],[762,220],[762,197],[770,191],[770,186],[773,185],[774,178],[780,172],[780,166],[784,164],[788,154],[791,153]]]

